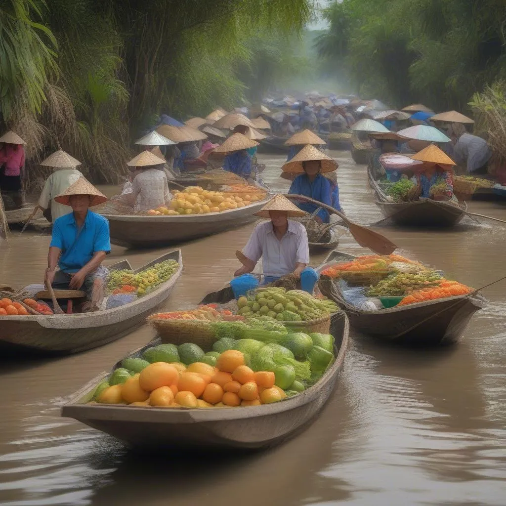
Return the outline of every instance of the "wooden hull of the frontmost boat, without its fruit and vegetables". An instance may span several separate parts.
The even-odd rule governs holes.
[[[143,450],[273,446],[307,427],[334,389],[348,348],[349,324],[345,314],[332,319],[331,332],[335,338],[335,362],[316,385],[280,402],[215,409],[86,404],[97,385],[108,375],[103,372],[74,394],[72,400],[63,406],[61,414]],[[159,340],[151,342],[148,347],[157,344]],[[139,355],[145,348],[131,356]]]

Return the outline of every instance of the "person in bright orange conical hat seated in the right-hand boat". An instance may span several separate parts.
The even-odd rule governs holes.
[[[456,200],[453,195],[452,166],[456,163],[435,144],[411,156],[413,160],[423,162],[414,165],[416,179],[421,189],[420,198],[434,198],[435,200]],[[444,188],[443,188],[444,185]],[[435,186],[441,186],[442,191],[434,193]]]

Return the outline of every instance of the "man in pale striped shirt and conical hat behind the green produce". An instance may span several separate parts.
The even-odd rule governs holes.
[[[301,276],[301,283],[310,284],[311,291],[318,279],[309,264],[309,244],[306,229],[302,223],[288,218],[302,218],[306,213],[292,204],[283,195],[275,195],[255,213],[269,218],[259,223],[240,255],[243,266],[235,271],[235,276],[252,272],[262,258],[265,282],[270,283],[282,276],[293,274]],[[309,290],[308,290],[309,291]]]

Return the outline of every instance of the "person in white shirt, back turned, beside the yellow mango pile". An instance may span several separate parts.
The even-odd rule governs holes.
[[[150,151],[143,151],[132,158],[127,165],[140,171],[132,182],[132,199],[136,211],[156,209],[171,201],[167,176],[164,172],[165,160]]]

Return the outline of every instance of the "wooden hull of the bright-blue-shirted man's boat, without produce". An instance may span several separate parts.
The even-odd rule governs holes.
[[[139,269],[128,260],[107,266],[109,270],[142,271],[164,260],[176,260],[179,269],[165,283],[144,297],[113,309],[69,315],[0,316],[0,350],[3,353],[71,354],[102,346],[141,326],[154,309],[170,296],[183,270],[181,250],[162,255]],[[36,286],[36,285],[34,285]],[[30,290],[33,294],[40,287]]]

